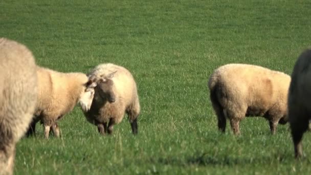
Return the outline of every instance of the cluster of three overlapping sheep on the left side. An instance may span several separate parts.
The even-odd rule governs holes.
[[[79,103],[87,121],[102,135],[112,134],[127,113],[132,133],[138,133],[140,104],[131,73],[112,63],[89,74],[61,73],[35,64],[21,43],[0,38],[0,174],[12,174],[15,145],[35,133],[40,121],[45,138],[60,136],[57,121]]]

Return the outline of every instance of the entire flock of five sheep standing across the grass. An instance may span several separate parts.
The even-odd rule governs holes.
[[[274,134],[278,123],[289,121],[295,157],[301,157],[302,135],[311,119],[310,65],[311,50],[306,50],[299,56],[292,77],[249,64],[226,64],[216,69],[208,88],[219,130],[225,132],[229,119],[238,135],[243,118],[262,116]],[[0,174],[13,172],[15,145],[25,134],[35,133],[38,121],[45,138],[50,130],[59,137],[57,121],[77,103],[102,135],[112,134],[125,113],[132,133],[138,133],[136,82],[119,65],[100,64],[87,75],[61,73],[36,65],[32,52],[21,43],[0,38],[0,75]]]

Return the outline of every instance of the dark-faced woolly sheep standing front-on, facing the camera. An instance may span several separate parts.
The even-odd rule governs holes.
[[[140,104],[131,73],[119,65],[105,63],[95,67],[88,77],[88,85],[95,88],[95,95],[90,110],[83,110],[87,121],[97,125],[101,135],[112,134],[113,126],[122,121],[126,112],[136,135]]]

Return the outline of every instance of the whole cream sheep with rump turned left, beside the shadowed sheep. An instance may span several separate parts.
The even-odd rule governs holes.
[[[234,135],[239,135],[243,118],[262,116],[275,134],[278,123],[287,123],[290,81],[289,75],[258,65],[226,64],[216,69],[208,88],[219,130],[225,132],[228,118]]]

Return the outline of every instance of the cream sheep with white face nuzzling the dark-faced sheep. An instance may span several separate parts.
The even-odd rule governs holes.
[[[51,127],[54,135],[59,137],[57,121],[71,112],[77,102],[82,107],[90,108],[94,89],[86,91],[88,78],[84,73],[61,73],[38,66],[37,77],[38,103],[27,135],[34,134],[36,123],[40,120],[45,138],[49,138]]]

